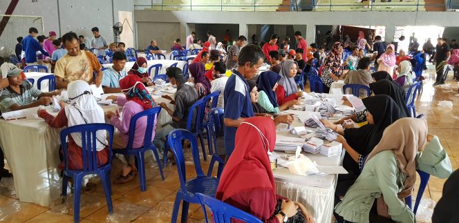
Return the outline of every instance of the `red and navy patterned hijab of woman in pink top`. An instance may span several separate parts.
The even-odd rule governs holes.
[[[144,110],[153,108],[155,101],[148,93],[147,88],[142,84],[142,79],[137,75],[127,75],[120,79],[120,88],[123,89],[128,101],[140,104]]]

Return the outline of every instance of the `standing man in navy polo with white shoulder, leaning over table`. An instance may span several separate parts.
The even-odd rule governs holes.
[[[226,159],[234,150],[234,139],[236,130],[244,119],[255,115],[268,116],[268,114],[254,114],[252,101],[250,100],[250,80],[263,65],[265,55],[259,46],[250,44],[241,48],[238,55],[238,67],[232,70],[233,75],[229,77],[225,86],[225,114],[223,119],[223,130],[225,132]],[[291,124],[293,118],[290,115],[279,115],[274,119],[274,124]],[[250,140],[250,139],[247,139]]]

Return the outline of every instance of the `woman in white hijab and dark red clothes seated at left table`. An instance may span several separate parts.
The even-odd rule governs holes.
[[[91,87],[86,81],[76,80],[68,84],[68,99],[70,104],[59,101],[61,110],[56,117],[50,115],[45,109],[38,110],[38,117],[41,117],[52,128],[65,126],[77,126],[80,124],[105,123],[104,110],[97,104],[95,97],[91,94]],[[97,166],[103,166],[109,162],[109,142],[106,140],[106,131],[97,131]],[[64,142],[65,143],[65,142]],[[82,157],[82,135],[72,133],[68,136],[67,142],[68,168],[71,170],[83,169]],[[63,160],[62,151],[59,157]],[[59,164],[59,169],[64,168],[64,162]]]

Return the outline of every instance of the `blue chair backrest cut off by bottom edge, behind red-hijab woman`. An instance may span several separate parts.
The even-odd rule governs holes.
[[[201,208],[204,212],[204,218],[207,221],[207,213],[205,206],[209,207],[212,217],[214,218],[215,223],[231,223],[232,220],[241,220],[249,223],[261,223],[254,215],[251,215],[241,209],[237,209],[231,204],[222,202],[221,200],[216,200],[214,197],[209,197],[201,193],[196,193],[196,197],[201,204]]]

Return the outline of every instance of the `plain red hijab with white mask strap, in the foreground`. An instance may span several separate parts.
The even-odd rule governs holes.
[[[261,133],[254,126],[259,128]],[[269,117],[244,119],[236,131],[234,152],[223,169],[216,198],[225,201],[240,191],[270,188],[276,200],[276,185],[268,157],[268,150],[274,151],[274,144],[276,144],[276,127],[272,119]],[[275,207],[276,202],[270,207],[270,213],[274,213]]]

